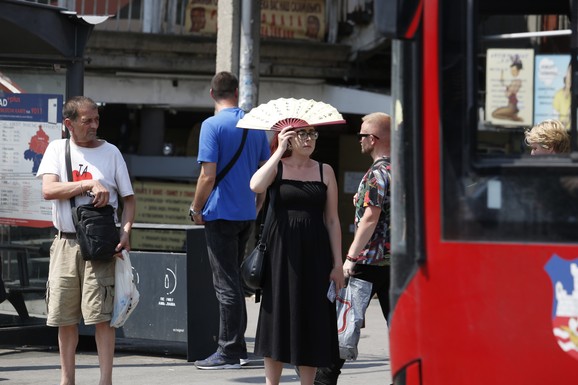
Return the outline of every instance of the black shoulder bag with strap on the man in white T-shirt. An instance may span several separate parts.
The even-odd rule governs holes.
[[[70,161],[70,142],[66,140],[66,169],[68,180],[72,181]],[[75,207],[74,198],[70,198],[72,220],[76,229],[76,240],[85,261],[112,260],[120,235],[114,220],[114,207],[94,207],[93,204]]]

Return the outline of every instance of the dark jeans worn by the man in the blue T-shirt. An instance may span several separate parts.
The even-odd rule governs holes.
[[[213,286],[219,301],[218,352],[227,358],[247,358],[247,309],[240,266],[254,221],[215,220],[205,223]]]

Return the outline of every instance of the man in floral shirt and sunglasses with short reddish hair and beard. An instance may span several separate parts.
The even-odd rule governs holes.
[[[355,276],[372,283],[372,293],[377,294],[383,317],[389,314],[390,282],[390,127],[391,118],[374,112],[362,118],[357,134],[361,152],[373,159],[373,164],[363,176],[355,205],[355,236],[345,263],[345,277]],[[353,289],[353,286],[351,286]],[[316,385],[337,384],[344,360],[339,358],[331,367],[318,368]]]

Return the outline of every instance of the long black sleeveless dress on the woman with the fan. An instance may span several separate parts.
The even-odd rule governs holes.
[[[298,366],[329,366],[339,355],[335,304],[327,299],[333,258],[322,164],[319,170],[320,181],[284,180],[279,162],[268,191],[272,218],[255,354]]]

